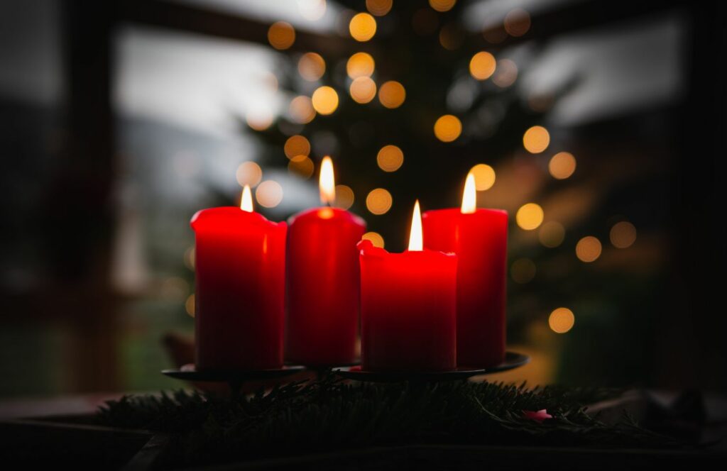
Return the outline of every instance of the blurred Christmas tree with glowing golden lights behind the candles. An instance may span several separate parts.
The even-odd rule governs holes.
[[[619,216],[627,204],[617,188],[643,182],[637,175],[625,184],[614,180],[614,188],[603,185],[614,172],[609,165],[623,161],[579,161],[575,172],[574,149],[542,126],[575,79],[548,94],[523,96],[518,89],[539,43],[529,44],[518,63],[500,44],[527,35],[529,14],[513,9],[501,23],[473,32],[463,1],[335,4],[342,31],[325,50],[291,48],[292,26],[270,26],[270,45],[286,57],[278,85],[294,98],[276,122],[246,117],[263,144],[262,162],[315,179],[321,158],[332,156],[337,206],[361,214],[371,231],[366,236],[392,251],[405,246],[414,199],[424,210],[457,207],[472,170],[479,206],[510,211],[509,342],[550,336],[552,344],[553,332],[574,326],[574,311],[586,313],[579,317],[581,335],[565,341],[578,354],[563,363],[561,379],[630,382],[643,374],[632,358],[648,362],[639,352],[651,345],[652,317],[638,311],[654,304],[643,294],[643,286],[656,283],[653,272],[624,278],[618,262],[606,270],[587,267],[606,250],[601,240],[610,238],[614,249],[634,243],[634,225]],[[256,172],[238,175],[241,182],[248,177],[260,181]],[[594,339],[606,331],[619,338],[630,331],[638,340],[624,348]],[[614,366],[626,361],[632,368]],[[600,372],[587,374],[590,368]]]

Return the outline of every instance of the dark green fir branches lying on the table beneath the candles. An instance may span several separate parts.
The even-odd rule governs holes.
[[[586,414],[585,404],[614,394],[490,382],[350,385],[329,375],[238,398],[184,390],[126,396],[97,418],[171,435],[177,464],[405,443],[672,445],[627,417],[608,425]],[[553,419],[523,415],[543,408]]]

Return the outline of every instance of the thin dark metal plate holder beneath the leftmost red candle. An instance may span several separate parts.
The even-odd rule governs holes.
[[[193,364],[180,369],[161,370],[161,374],[174,379],[196,382],[222,382],[230,385],[233,396],[239,395],[245,382],[261,379],[277,379],[305,371],[305,366],[286,365],[279,369],[241,370],[241,369],[204,369],[197,370]]]

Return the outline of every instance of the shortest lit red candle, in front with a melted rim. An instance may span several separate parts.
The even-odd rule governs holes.
[[[361,252],[361,368],[446,371],[457,367],[457,256],[422,250],[419,201],[409,250],[390,254],[370,241]]]

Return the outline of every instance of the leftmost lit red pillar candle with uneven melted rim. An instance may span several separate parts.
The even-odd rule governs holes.
[[[283,366],[285,222],[240,208],[197,212],[195,338],[198,369]]]

